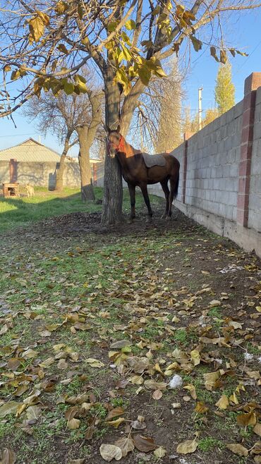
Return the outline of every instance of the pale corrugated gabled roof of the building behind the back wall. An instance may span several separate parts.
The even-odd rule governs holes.
[[[0,161],[9,161],[11,158],[16,159],[16,161],[54,161],[57,163],[60,161],[61,155],[53,149],[45,147],[42,143],[29,138],[14,147],[0,150]]]

